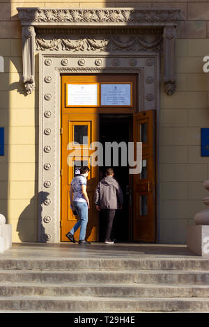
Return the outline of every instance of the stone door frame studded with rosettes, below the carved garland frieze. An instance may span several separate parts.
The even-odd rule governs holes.
[[[39,152],[38,152],[38,241],[60,242],[60,115],[61,74],[134,73],[139,76],[139,111],[155,109],[160,102],[160,56],[159,54],[130,54],[120,56],[120,67],[114,67],[116,55],[102,55],[100,67],[95,61],[101,55],[39,54]],[[86,66],[80,67],[80,58]],[[108,61],[107,61],[108,58]],[[130,67],[130,61],[137,60],[137,67]],[[63,65],[67,63],[68,66]],[[107,65],[109,63],[109,65]],[[152,65],[150,65],[152,63]],[[153,83],[147,83],[152,76]],[[145,93],[147,90],[147,94]],[[143,97],[145,95],[145,97]],[[151,96],[150,96],[151,95]],[[158,165],[157,165],[158,166]]]

